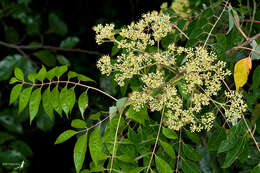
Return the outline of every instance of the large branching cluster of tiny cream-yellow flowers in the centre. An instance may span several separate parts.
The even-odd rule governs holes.
[[[214,100],[221,90],[222,81],[231,74],[226,70],[225,62],[219,61],[214,53],[202,47],[184,48],[174,44],[170,44],[167,50],[160,49],[160,40],[173,32],[169,16],[157,12],[143,15],[138,23],[117,32],[122,38],[120,41],[114,38],[116,32],[113,28],[113,25],[94,27],[97,43],[110,40],[125,51],[113,64],[109,56],[103,56],[97,67],[102,74],[115,73],[119,86],[124,86],[126,80],[133,77],[142,82],[129,97],[136,111],[145,105],[151,111],[164,109],[165,126],[179,130],[189,125],[192,132],[210,130],[216,117],[209,109],[212,105],[220,105],[228,121],[241,117],[245,112],[246,104],[237,92],[227,92],[226,103]],[[155,45],[157,51],[146,51],[147,47]],[[180,57],[184,59],[178,66],[176,61]],[[182,89],[188,98],[180,94],[178,81],[185,84]]]

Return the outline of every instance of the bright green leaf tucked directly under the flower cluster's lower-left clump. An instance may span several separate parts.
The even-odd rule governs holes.
[[[142,125],[145,125],[145,120],[149,120],[146,107],[143,107],[140,111],[136,112],[134,108],[130,106],[128,109],[128,117]]]

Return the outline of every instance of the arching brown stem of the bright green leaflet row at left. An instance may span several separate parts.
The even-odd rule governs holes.
[[[35,83],[30,83],[30,82],[25,82],[25,81],[21,81],[23,82],[24,84],[28,84],[28,85],[32,85],[32,86],[44,86],[44,85],[51,85],[51,84],[59,84],[59,83],[65,83],[65,84],[73,84],[75,86],[82,86],[84,88],[88,88],[88,89],[92,89],[92,90],[95,90],[95,91],[98,91],[108,97],[110,97],[111,99],[117,101],[116,98],[114,98],[113,96],[109,95],[108,93],[98,89],[98,88],[95,88],[95,87],[92,87],[92,86],[88,86],[88,85],[84,85],[82,83],[76,83],[76,82],[71,82],[71,81],[50,81],[50,82],[46,82],[46,83],[39,83],[39,84],[35,84]]]

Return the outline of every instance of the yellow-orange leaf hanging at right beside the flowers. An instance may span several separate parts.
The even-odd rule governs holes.
[[[250,56],[239,60],[235,64],[234,80],[235,80],[237,91],[239,90],[240,87],[243,87],[246,84],[248,79],[248,74],[251,68],[252,68],[252,61]]]

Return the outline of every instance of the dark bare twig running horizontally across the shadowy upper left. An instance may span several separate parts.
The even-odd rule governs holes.
[[[34,49],[48,49],[48,50],[53,50],[53,51],[80,52],[80,53],[86,53],[86,54],[92,54],[92,55],[98,55],[98,56],[102,56],[103,55],[100,52],[91,51],[91,50],[84,50],[84,49],[79,49],[79,48],[71,49],[71,48],[62,48],[62,47],[55,47],[55,46],[48,46],[48,45],[35,45],[35,46],[31,46],[31,45],[16,45],[16,44],[6,43],[6,42],[3,42],[3,41],[0,41],[0,45],[8,47],[8,48],[16,49],[20,53],[21,53],[22,49],[24,49],[24,50],[25,49],[30,49],[30,50],[34,50]]]

